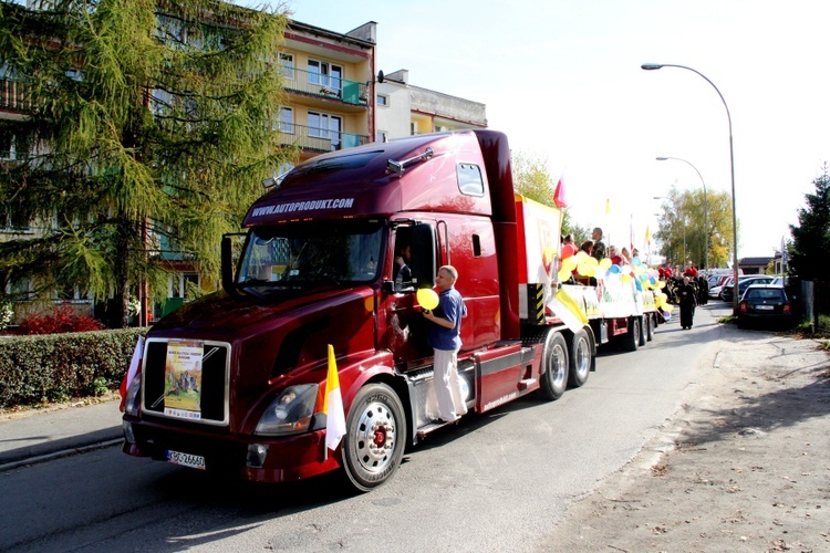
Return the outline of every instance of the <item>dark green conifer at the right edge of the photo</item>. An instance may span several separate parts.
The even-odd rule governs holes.
[[[798,210],[798,225],[790,225],[789,272],[803,280],[827,281],[830,274],[830,175],[816,178],[815,194],[806,194],[807,206]]]

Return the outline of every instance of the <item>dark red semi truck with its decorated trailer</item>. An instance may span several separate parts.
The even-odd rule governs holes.
[[[222,290],[148,332],[126,383],[126,453],[253,481],[343,468],[360,490],[383,483],[405,447],[443,426],[416,299],[442,264],[457,268],[468,310],[458,372],[470,411],[533,392],[557,399],[585,383],[598,345],[618,336],[636,349],[658,321],[651,292],[556,282],[559,213],[515,196],[507,137],[492,131],[315,157],[243,227],[241,249],[222,240]],[[346,420],[334,451],[330,344]]]

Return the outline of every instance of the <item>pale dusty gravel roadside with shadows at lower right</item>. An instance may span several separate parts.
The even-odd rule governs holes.
[[[683,408],[540,550],[830,551],[830,356],[818,345],[729,328]]]

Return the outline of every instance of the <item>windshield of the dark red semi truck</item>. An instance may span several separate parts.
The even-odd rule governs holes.
[[[380,221],[309,221],[251,229],[237,283],[282,286],[371,282],[381,265]]]

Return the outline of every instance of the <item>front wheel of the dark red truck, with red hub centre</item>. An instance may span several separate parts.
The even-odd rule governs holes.
[[[397,470],[406,446],[401,399],[385,384],[369,384],[349,409],[343,436],[343,468],[360,491],[377,488]]]

